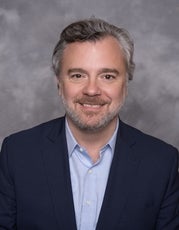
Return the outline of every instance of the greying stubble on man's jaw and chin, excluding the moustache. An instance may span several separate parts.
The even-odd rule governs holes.
[[[124,104],[125,96],[123,96],[121,103],[118,106],[116,106],[112,111],[103,114],[103,116],[101,115],[98,119],[96,119],[96,122],[93,123],[85,122],[82,118],[83,115],[81,115],[80,112],[76,112],[73,108],[71,108],[63,95],[61,95],[61,99],[65,108],[66,116],[72,121],[72,123],[82,131],[95,133],[106,128],[113,120],[115,120],[119,116],[119,111]],[[98,116],[98,114],[95,112],[86,112],[85,116],[86,119],[88,117],[90,120],[95,118],[95,116]]]

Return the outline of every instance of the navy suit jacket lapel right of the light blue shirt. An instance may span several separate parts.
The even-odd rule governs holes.
[[[115,153],[101,208],[97,230],[116,229],[134,185],[139,160],[135,158],[135,140],[120,122]],[[116,222],[117,221],[117,222]]]

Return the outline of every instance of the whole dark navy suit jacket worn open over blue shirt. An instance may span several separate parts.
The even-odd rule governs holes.
[[[177,167],[175,148],[120,121],[96,229],[179,229]],[[4,140],[0,229],[76,230],[64,118]]]

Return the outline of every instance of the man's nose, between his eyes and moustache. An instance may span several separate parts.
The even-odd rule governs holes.
[[[96,78],[89,78],[83,89],[83,93],[88,96],[97,96],[101,94],[99,82]]]

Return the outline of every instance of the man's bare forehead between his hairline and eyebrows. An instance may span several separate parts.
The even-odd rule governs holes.
[[[62,56],[62,69],[70,67],[124,66],[125,60],[118,40],[112,36],[97,41],[68,44]]]

